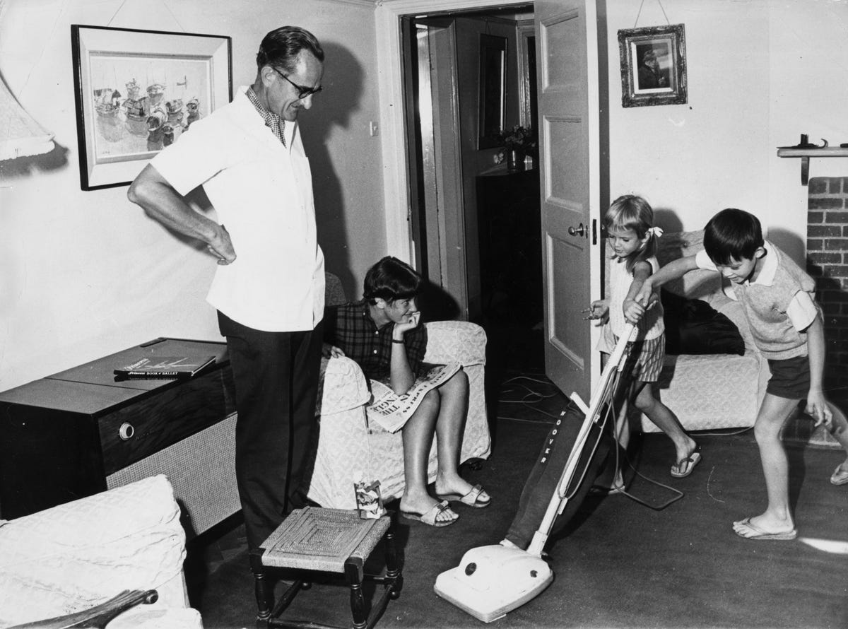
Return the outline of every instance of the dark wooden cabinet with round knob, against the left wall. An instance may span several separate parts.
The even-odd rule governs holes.
[[[116,381],[141,356],[212,355],[188,380]],[[235,398],[223,342],[162,338],[0,392],[0,517],[164,473],[187,532],[239,508]]]

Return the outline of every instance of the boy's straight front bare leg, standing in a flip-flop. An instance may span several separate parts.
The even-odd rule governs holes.
[[[760,448],[762,472],[766,477],[768,505],[762,514],[751,517],[749,521],[751,526],[764,532],[788,532],[795,528],[789,511],[789,459],[780,440],[780,431],[797,406],[796,399],[778,398],[766,393],[756,415],[754,437]],[[734,531],[744,528],[744,524],[734,522]]]

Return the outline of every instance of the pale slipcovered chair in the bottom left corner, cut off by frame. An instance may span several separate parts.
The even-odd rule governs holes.
[[[155,589],[153,604],[126,610],[108,629],[203,629],[188,604],[185,540],[163,475],[0,520],[0,627],[89,610],[124,590]]]

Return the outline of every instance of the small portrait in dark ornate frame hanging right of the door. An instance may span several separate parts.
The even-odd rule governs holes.
[[[622,107],[687,102],[686,39],[682,24],[618,31]]]

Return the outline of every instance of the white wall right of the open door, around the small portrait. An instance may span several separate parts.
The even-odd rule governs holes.
[[[757,214],[802,259],[806,186],[777,147],[848,142],[845,0],[607,0],[611,197],[642,194],[661,220],[700,229],[719,209]],[[689,103],[624,109],[617,31],[685,25]],[[662,9],[665,8],[665,14]],[[848,175],[848,159],[813,159],[811,176]],[[675,224],[675,219],[679,223]]]

